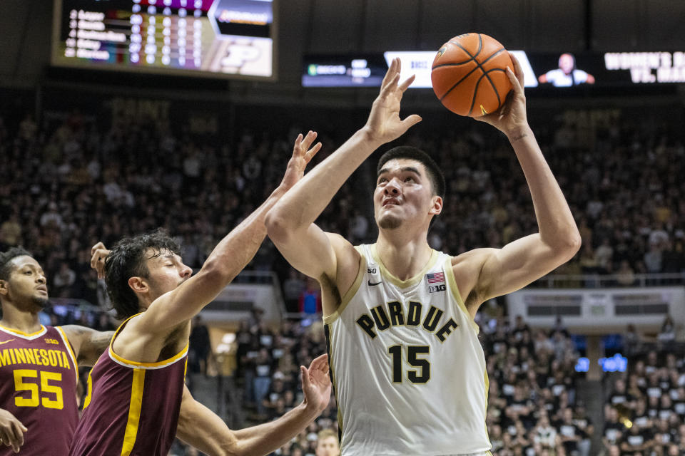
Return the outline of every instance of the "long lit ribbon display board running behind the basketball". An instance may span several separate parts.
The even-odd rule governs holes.
[[[521,63],[527,88],[562,93],[664,87],[685,83],[685,52],[509,51]],[[435,51],[386,51],[357,55],[308,55],[303,61],[304,87],[378,87],[393,58],[402,61],[403,80],[416,76],[410,88],[430,88]]]

